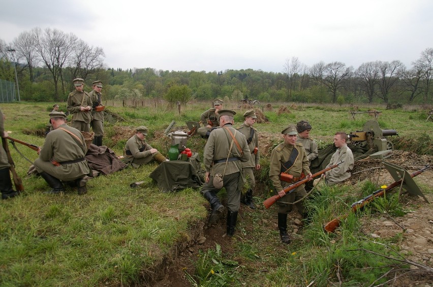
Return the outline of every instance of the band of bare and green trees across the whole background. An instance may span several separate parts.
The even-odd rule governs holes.
[[[433,48],[414,55],[412,66],[401,61],[372,61],[359,67],[323,61],[307,66],[298,57],[282,63],[281,73],[240,69],[168,71],[154,68],[110,68],[104,50],[89,46],[73,33],[36,27],[12,43],[0,39],[0,79],[15,82],[20,99],[66,101],[72,80],[104,82],[105,99],[166,99],[187,102],[228,97],[261,102],[432,103]]]

